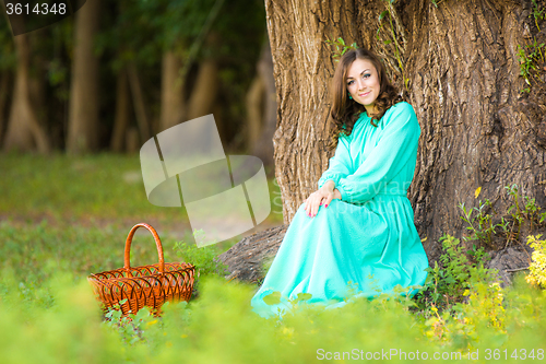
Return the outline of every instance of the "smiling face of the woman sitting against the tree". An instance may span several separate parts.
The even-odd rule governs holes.
[[[373,63],[367,59],[355,59],[347,70],[347,91],[353,99],[364,105],[368,115],[373,113],[376,98],[379,96],[381,85]]]

